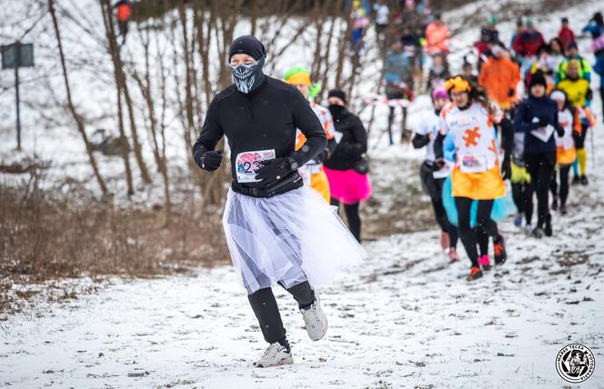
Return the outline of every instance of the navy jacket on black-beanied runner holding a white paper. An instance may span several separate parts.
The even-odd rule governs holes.
[[[535,98],[529,96],[518,106],[514,115],[514,126],[516,131],[525,133],[524,154],[541,154],[556,151],[556,139],[554,134],[549,137],[548,142],[541,141],[537,136],[530,134],[531,131],[539,128],[539,123],[533,123],[533,118],[545,119],[545,121],[554,127],[559,128],[558,124],[558,105],[547,96]]]

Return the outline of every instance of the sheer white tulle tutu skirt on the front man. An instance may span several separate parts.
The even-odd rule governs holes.
[[[303,187],[270,198],[229,190],[223,217],[228,250],[248,294],[276,284],[331,282],[367,253],[331,206]]]

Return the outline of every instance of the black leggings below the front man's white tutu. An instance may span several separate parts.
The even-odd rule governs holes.
[[[281,286],[283,284],[279,283]],[[299,308],[305,308],[315,301],[315,292],[310,287],[308,282],[297,284],[287,289],[289,294],[294,296]],[[258,324],[262,330],[265,340],[269,344],[279,342],[285,344],[286,342],[286,329],[283,327],[281,321],[281,314],[277,306],[277,300],[275,300],[275,294],[271,288],[259,289],[253,294],[248,294],[247,299],[249,304],[252,305],[254,314],[258,319]]]

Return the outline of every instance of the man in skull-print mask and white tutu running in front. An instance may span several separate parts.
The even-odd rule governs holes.
[[[327,333],[316,287],[366,256],[330,205],[303,185],[297,169],[324,150],[325,131],[294,86],[264,75],[266,56],[251,35],[230,45],[235,84],[212,100],[193,146],[196,164],[214,172],[223,157],[216,145],[227,136],[233,183],[223,225],[231,259],[270,344],[258,367],[293,363],[272,285],[294,296],[316,341]],[[295,151],[297,129],[307,141]]]

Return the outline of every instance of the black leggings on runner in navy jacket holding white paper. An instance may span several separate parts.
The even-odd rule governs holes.
[[[549,223],[549,184],[556,165],[556,152],[525,154],[530,183],[537,194],[537,226]]]

